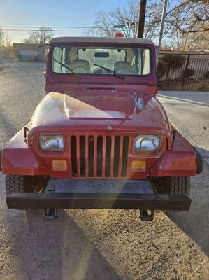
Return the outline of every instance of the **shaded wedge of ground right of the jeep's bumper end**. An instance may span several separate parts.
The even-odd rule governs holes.
[[[208,152],[208,151],[206,151]],[[189,211],[167,214],[178,227],[209,255],[209,165],[204,161],[203,172],[191,177]]]

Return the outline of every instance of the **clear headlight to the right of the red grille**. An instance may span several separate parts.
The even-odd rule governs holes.
[[[153,151],[159,150],[160,137],[155,135],[139,135],[134,139],[135,151]]]

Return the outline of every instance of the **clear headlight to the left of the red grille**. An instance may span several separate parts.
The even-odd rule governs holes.
[[[43,151],[64,151],[62,135],[40,135],[39,142]]]

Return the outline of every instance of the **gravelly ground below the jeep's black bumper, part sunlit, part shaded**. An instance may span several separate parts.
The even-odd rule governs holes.
[[[41,210],[6,209],[1,188],[0,279],[209,279],[208,204],[197,203],[208,172],[192,180],[190,214],[157,211],[153,223],[138,211],[82,209],[44,221]]]

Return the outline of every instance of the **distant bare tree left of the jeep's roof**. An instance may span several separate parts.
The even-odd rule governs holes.
[[[24,43],[48,43],[54,36],[53,30],[50,27],[40,27],[38,30],[29,30],[29,38],[24,39]]]

